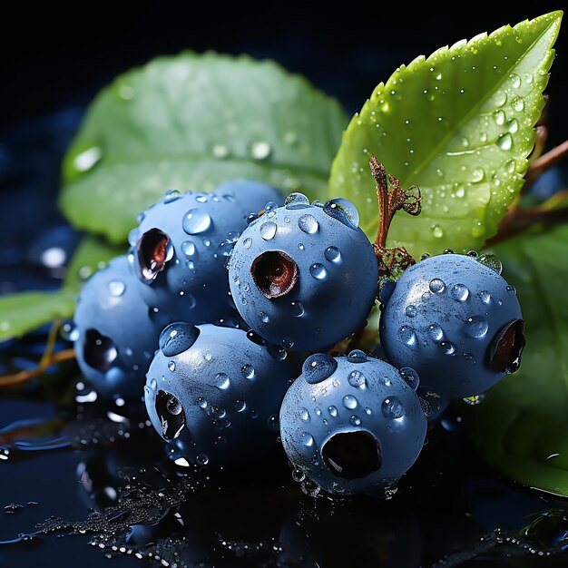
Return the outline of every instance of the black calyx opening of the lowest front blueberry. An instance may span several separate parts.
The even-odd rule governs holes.
[[[380,444],[366,430],[339,432],[321,448],[329,470],[344,479],[358,479],[377,471],[383,458]]]

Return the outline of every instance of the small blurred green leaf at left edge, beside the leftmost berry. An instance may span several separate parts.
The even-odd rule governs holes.
[[[118,254],[121,250],[103,240],[85,237],[75,251],[61,289],[0,297],[0,341],[22,337],[54,319],[73,318],[84,279]]]

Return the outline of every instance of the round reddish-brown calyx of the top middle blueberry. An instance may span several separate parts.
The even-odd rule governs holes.
[[[296,286],[299,268],[282,250],[266,250],[250,265],[252,280],[268,298],[280,298]]]

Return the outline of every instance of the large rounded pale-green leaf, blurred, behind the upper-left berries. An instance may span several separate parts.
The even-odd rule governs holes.
[[[122,242],[171,188],[246,178],[323,197],[347,122],[334,99],[278,64],[161,57],[97,96],[64,161],[61,206],[76,227]]]

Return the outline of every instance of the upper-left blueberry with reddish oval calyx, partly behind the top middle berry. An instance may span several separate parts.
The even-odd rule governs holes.
[[[274,188],[232,181],[211,193],[169,192],[141,215],[129,237],[142,297],[191,323],[234,312],[224,268],[251,211],[281,201]]]

